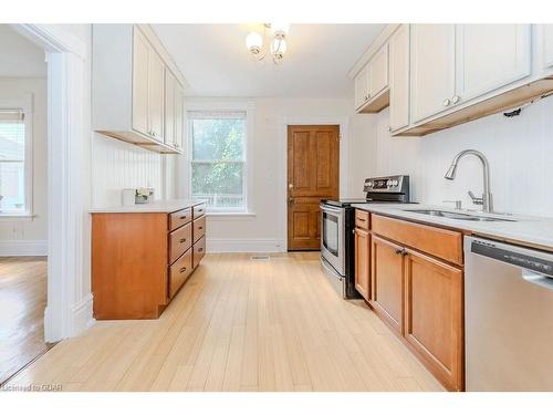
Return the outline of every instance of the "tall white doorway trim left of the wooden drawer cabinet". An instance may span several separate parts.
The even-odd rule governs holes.
[[[48,342],[86,330],[92,319],[90,269],[84,236],[90,218],[86,154],[86,44],[60,24],[14,24],[46,52],[48,60]]]

